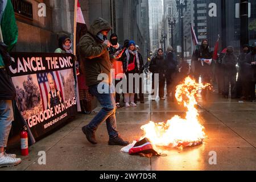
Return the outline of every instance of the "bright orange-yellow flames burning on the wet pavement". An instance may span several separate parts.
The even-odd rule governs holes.
[[[143,138],[148,138],[156,146],[177,147],[182,143],[202,142],[205,138],[204,127],[199,122],[199,113],[195,107],[196,94],[210,84],[197,83],[192,78],[185,78],[183,84],[176,86],[175,97],[179,104],[187,108],[185,119],[175,115],[166,123],[150,121],[141,126]]]

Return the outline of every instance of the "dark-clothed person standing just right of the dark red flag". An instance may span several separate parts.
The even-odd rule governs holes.
[[[229,97],[229,84],[231,85],[231,98],[236,98],[236,64],[237,57],[234,55],[234,48],[232,46],[228,46],[222,63],[224,70],[224,98]]]

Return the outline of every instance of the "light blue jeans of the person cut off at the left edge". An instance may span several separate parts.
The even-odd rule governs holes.
[[[6,147],[7,145],[13,119],[11,100],[0,100],[0,147]]]

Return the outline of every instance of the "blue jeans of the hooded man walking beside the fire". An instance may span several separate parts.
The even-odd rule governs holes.
[[[108,90],[107,93],[99,93],[98,85],[93,85],[89,87],[90,93],[97,98],[100,102],[102,109],[100,112],[92,119],[92,121],[88,124],[88,128],[90,130],[96,131],[98,126],[106,121],[106,127],[108,129],[109,138],[118,137],[117,131],[117,119],[115,118],[115,98],[114,94],[110,93],[110,85],[104,84],[102,87],[106,87]]]

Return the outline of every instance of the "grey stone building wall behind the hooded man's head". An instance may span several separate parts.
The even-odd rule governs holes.
[[[125,39],[134,40],[141,48],[142,55],[146,55],[145,37],[142,34],[142,23],[145,23],[142,22],[142,1],[89,0],[89,10],[89,24],[98,17],[108,20],[119,43],[123,44]]]

